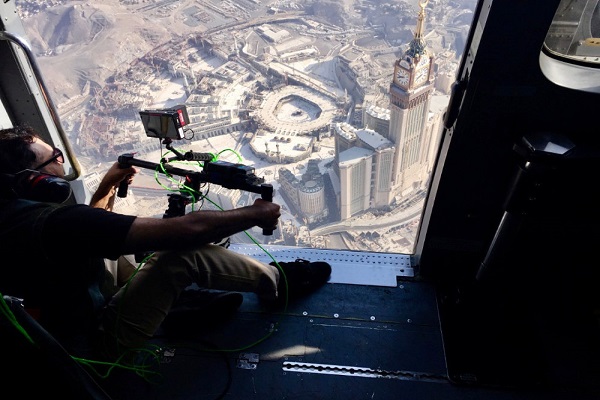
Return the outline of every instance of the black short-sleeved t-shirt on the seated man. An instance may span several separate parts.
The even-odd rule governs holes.
[[[39,310],[42,326],[68,348],[97,327],[104,258],[123,254],[135,218],[82,204],[0,200],[0,293]]]

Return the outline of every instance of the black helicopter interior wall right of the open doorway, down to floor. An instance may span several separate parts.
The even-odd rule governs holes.
[[[459,72],[464,92],[449,105],[457,116],[444,134],[417,270],[436,282],[448,372],[457,382],[600,382],[600,143],[589,118],[599,98],[557,86],[540,70],[559,1],[552,3],[482,2],[486,12],[473,24],[479,36],[472,32]],[[511,188],[531,167],[519,166],[515,145],[538,134],[570,140],[574,150],[564,158],[577,161],[546,165],[515,206]],[[493,278],[478,278],[495,246],[503,247]]]

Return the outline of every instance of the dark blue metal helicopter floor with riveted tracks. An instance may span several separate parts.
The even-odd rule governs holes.
[[[245,294],[231,320],[158,335],[156,383],[118,370],[103,385],[128,400],[576,398],[451,383],[436,304],[421,282],[327,284],[279,312]]]

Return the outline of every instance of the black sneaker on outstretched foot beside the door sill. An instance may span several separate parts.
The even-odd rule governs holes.
[[[275,262],[271,265],[277,267]],[[279,266],[287,278],[288,298],[299,297],[314,292],[329,280],[331,265],[324,261],[308,261],[297,258],[293,262],[280,262]],[[281,274],[277,291],[280,298],[285,298],[285,279]]]

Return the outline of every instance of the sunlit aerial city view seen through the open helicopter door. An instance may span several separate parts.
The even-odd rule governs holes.
[[[17,5],[90,191],[123,154],[210,153],[282,206],[272,235],[232,242],[413,251],[474,0]],[[148,135],[140,111],[178,107],[182,139]],[[179,178],[141,168],[116,210],[163,216]],[[200,191],[193,209],[260,196]]]

